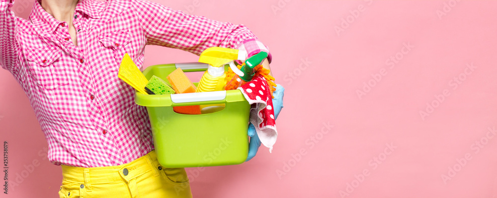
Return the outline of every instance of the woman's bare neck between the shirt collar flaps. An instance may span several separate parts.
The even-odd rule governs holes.
[[[79,0],[41,0],[41,7],[59,21],[72,23]]]

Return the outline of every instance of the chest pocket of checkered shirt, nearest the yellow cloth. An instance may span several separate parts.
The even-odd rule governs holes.
[[[108,35],[101,35],[99,41],[103,48],[104,56],[108,61],[110,70],[117,71],[121,65],[124,54],[134,56],[130,42],[130,34],[127,31],[118,31]]]

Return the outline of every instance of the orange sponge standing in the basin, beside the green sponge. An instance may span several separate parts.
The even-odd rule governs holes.
[[[167,80],[171,84],[172,89],[176,94],[195,93],[197,87],[186,77],[181,68],[177,68],[167,76]],[[200,106],[174,106],[174,112],[182,114],[200,114]]]

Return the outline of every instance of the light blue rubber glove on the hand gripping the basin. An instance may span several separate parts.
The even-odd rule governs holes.
[[[274,107],[275,120],[278,118],[278,115],[281,109],[283,108],[284,95],[285,95],[285,88],[283,88],[279,84],[276,84],[276,90],[273,92],[274,96],[273,107]],[[250,143],[248,144],[248,156],[246,161],[252,159],[255,156],[261,144],[259,136],[257,136],[257,133],[255,131],[255,127],[251,123],[248,125],[248,136],[250,136]]]

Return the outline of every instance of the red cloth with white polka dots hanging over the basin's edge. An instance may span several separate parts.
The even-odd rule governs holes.
[[[271,99],[267,81],[264,77],[257,76],[238,89],[242,91],[245,99],[251,104],[250,123],[255,127],[262,145],[269,148],[269,152],[271,152],[278,133],[274,120],[273,99]]]

